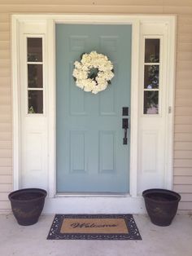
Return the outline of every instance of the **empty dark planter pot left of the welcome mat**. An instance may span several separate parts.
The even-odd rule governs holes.
[[[12,212],[22,226],[37,223],[43,210],[47,192],[40,188],[26,188],[9,194]]]

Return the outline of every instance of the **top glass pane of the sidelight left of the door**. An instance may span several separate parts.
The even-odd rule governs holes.
[[[28,38],[28,61],[42,61],[42,38]]]

